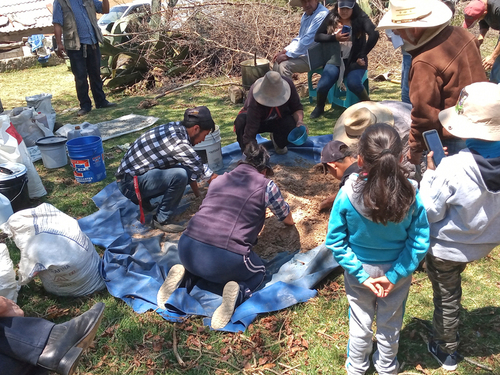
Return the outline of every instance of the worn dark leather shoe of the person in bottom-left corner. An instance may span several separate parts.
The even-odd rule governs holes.
[[[104,307],[104,303],[99,302],[82,315],[55,325],[37,365],[61,375],[72,374],[97,333]]]

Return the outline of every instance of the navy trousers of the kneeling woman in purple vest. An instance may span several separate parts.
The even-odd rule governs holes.
[[[266,267],[257,254],[233,253],[230,250],[200,242],[183,234],[179,239],[179,258],[191,280],[183,282],[194,286],[197,278],[220,284],[222,288],[229,281],[236,281],[240,286],[238,304],[251,296],[266,275]],[[186,286],[187,287],[187,286]],[[188,291],[189,291],[189,287]]]

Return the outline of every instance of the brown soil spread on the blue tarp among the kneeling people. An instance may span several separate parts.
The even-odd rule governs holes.
[[[319,212],[318,206],[323,199],[338,191],[338,181],[331,175],[324,175],[322,166],[310,168],[274,167],[273,181],[280,188],[285,200],[290,205],[294,226],[286,226],[268,209],[264,228],[253,250],[264,259],[272,259],[282,251],[305,252],[320,245],[325,240],[330,212]],[[202,196],[206,187],[201,188]],[[203,199],[190,196],[191,204],[187,211],[179,215],[176,221],[185,221],[193,216]],[[150,235],[161,234],[154,230]],[[168,236],[168,241],[179,239],[180,235]]]

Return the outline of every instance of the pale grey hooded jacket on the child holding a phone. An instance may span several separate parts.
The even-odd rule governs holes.
[[[420,196],[431,225],[429,252],[472,262],[500,244],[500,158],[464,149],[427,170]]]

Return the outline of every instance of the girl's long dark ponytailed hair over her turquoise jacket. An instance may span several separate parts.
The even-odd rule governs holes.
[[[355,189],[372,221],[400,223],[415,201],[415,189],[400,163],[403,144],[398,132],[387,124],[369,126],[358,149],[363,167]]]

